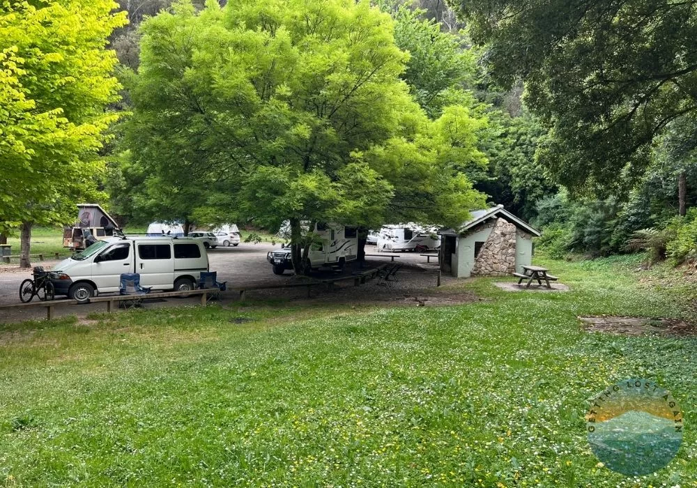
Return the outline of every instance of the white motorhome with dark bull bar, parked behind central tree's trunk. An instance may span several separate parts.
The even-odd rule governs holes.
[[[321,243],[313,244],[307,255],[310,268],[322,266],[343,268],[348,261],[355,261],[358,256],[358,228],[340,224],[316,224],[314,234],[319,236]],[[270,251],[266,259],[273,266],[273,273],[282,275],[284,270],[293,269],[291,248],[282,247]]]

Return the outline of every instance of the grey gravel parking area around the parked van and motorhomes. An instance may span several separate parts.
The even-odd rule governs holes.
[[[238,247],[217,247],[208,251],[210,269],[218,273],[218,281],[227,281],[229,287],[239,287],[242,285],[262,285],[262,284],[283,284],[295,280],[290,271],[284,275],[274,275],[271,267],[266,261],[266,253],[274,248],[279,248],[279,244],[270,243],[247,244],[241,243]],[[373,246],[366,247],[367,254],[374,254]],[[59,261],[43,261],[33,263],[34,266],[44,266],[52,268]],[[389,257],[369,257],[363,265],[363,269],[380,266],[381,264],[392,264]],[[462,303],[469,301],[471,297],[459,295],[448,296],[439,293],[438,298],[433,296],[436,287],[437,266],[434,262],[426,264],[426,258],[420,257],[418,253],[399,253],[399,258],[395,259],[402,268],[397,274],[397,281],[388,284],[378,285],[378,280],[373,280],[361,287],[354,287],[353,281],[341,282],[337,286],[328,290],[324,287],[313,289],[312,298],[307,298],[305,289],[275,289],[257,290],[247,293],[247,298],[254,300],[263,298],[287,298],[290,300],[309,300],[316,303],[383,303],[392,305],[436,305],[447,303]],[[346,266],[344,274],[351,274],[357,268]],[[342,273],[331,270],[316,273],[314,277],[318,279],[328,279],[339,277]],[[27,277],[31,277],[31,270],[20,270],[17,266],[0,267],[0,305],[10,305],[19,303],[18,290],[20,283]],[[443,278],[446,280],[446,278]],[[156,293],[153,292],[153,298]],[[34,298],[36,300],[36,298]],[[237,293],[231,291],[223,296],[223,305],[233,300],[238,300]],[[196,305],[199,303],[198,297],[169,299],[146,303],[145,307],[171,307],[182,305]],[[106,305],[94,303],[80,306],[56,307],[56,317],[77,314],[84,316],[92,312],[105,312]],[[21,310],[2,310],[0,311],[0,323],[14,322],[31,319],[45,318],[45,308],[30,307]]]

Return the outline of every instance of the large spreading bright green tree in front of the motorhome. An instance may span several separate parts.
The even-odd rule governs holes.
[[[407,59],[390,16],[366,0],[176,3],[142,27],[132,158],[177,190],[226,188],[240,217],[289,220],[298,271],[312,241],[301,222],[378,225],[411,191],[414,211],[461,223],[479,199],[457,165],[425,151],[418,180],[376,157],[429,130],[399,78]]]

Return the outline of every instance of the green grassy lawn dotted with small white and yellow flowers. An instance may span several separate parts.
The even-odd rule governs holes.
[[[568,293],[459,307],[247,303],[0,326],[0,485],[697,487],[697,340],[584,333],[687,318],[634,259],[539,261]],[[692,293],[692,294],[690,294]],[[239,323],[240,318],[250,321]],[[667,468],[598,464],[588,399],[644,377],[684,411]]]

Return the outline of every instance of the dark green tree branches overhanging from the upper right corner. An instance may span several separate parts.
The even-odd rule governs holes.
[[[526,82],[527,104],[552,127],[538,157],[569,187],[631,183],[654,138],[697,111],[694,1],[451,3],[498,82]]]

